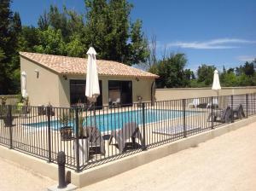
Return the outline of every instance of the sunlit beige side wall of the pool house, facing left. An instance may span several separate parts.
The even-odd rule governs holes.
[[[39,76],[37,78],[38,70]],[[26,90],[32,106],[59,106],[59,77],[49,69],[20,56],[20,72],[26,72]]]

